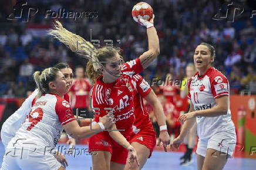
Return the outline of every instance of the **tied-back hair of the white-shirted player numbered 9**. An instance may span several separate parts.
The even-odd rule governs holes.
[[[49,82],[56,80],[56,76],[59,71],[60,70],[55,67],[49,67],[42,72],[35,72],[33,74],[33,79],[35,80],[38,88],[38,97],[41,97],[42,94],[50,93]]]

